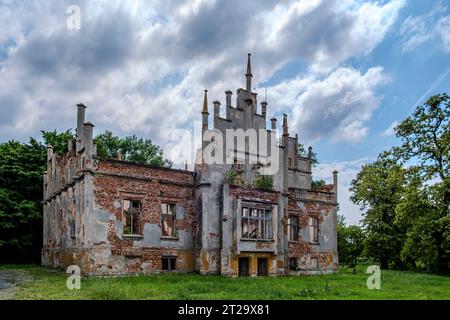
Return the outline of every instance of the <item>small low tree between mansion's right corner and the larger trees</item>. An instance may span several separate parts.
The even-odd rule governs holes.
[[[339,215],[337,235],[339,262],[355,266],[364,251],[364,230],[359,226],[347,226],[344,216]]]

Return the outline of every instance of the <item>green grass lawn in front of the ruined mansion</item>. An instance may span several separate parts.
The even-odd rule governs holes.
[[[0,266],[28,280],[14,299],[450,299],[450,277],[382,270],[381,289],[366,287],[366,268],[342,268],[333,275],[226,278],[162,274],[82,278],[80,290],[66,288],[67,275],[39,266]]]

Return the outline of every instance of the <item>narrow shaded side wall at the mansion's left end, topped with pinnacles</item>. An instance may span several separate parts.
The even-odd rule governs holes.
[[[67,268],[78,264],[89,270],[88,217],[92,211],[93,157],[91,126],[86,134],[68,141],[68,152],[58,155],[47,147],[44,173],[42,264]]]

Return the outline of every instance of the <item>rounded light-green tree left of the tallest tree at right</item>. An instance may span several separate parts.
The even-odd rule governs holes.
[[[365,254],[382,268],[401,266],[404,228],[394,224],[395,207],[404,187],[404,169],[388,154],[366,164],[351,183],[351,200],[366,209],[363,225],[367,232]]]

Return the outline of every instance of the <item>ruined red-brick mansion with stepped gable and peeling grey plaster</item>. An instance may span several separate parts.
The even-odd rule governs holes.
[[[68,142],[68,152],[47,149],[42,264],[78,265],[87,275],[336,271],[337,172],[332,184],[312,188],[311,150],[299,155],[298,135],[289,134],[286,115],[281,139],[275,145],[267,138],[276,150],[272,160],[279,162],[266,179],[269,187],[255,184],[267,177],[258,174],[267,161],[250,162],[251,146],[239,153],[227,145],[235,155],[231,163],[203,159],[218,140],[213,137],[228,129],[276,132],[275,118],[266,129],[267,102],[258,106],[251,90],[250,55],[245,76],[234,106],[232,92],[225,91],[224,115],[220,102],[213,102],[213,128],[205,91],[202,129],[210,140],[203,139],[194,171],[97,157],[94,125],[85,122],[86,107],[78,104],[76,139]]]

